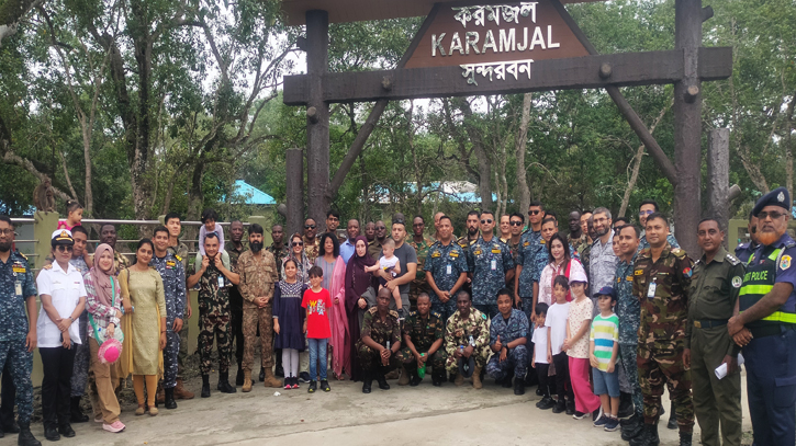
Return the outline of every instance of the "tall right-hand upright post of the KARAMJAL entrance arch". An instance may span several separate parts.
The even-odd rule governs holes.
[[[674,47],[683,50],[685,73],[674,84],[674,226],[680,245],[699,252],[696,225],[700,211],[702,92],[697,71],[702,46],[702,0],[675,0]]]

